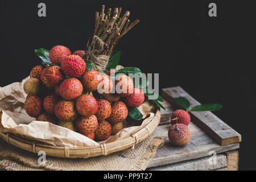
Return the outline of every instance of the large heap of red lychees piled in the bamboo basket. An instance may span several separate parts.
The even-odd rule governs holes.
[[[127,106],[142,105],[144,93],[134,88],[126,75],[114,80],[121,92],[110,93],[113,80],[96,70],[86,71],[84,55],[84,51],[72,55],[67,47],[53,47],[49,59],[54,65],[37,65],[24,83],[28,95],[24,109],[38,121],[66,127],[93,140],[106,140],[122,130]]]

